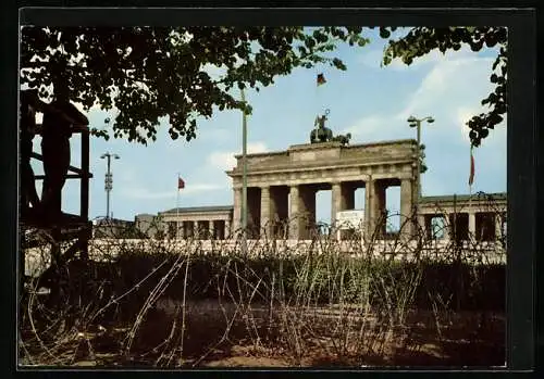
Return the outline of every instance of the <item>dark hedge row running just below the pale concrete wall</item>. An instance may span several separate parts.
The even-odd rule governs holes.
[[[120,303],[137,307],[164,280],[176,260],[180,257],[168,253],[133,252],[109,263],[72,264],[67,287],[74,294],[79,291],[94,299],[100,293],[103,301],[129,292]],[[185,264],[177,261],[181,269],[170,274],[164,296],[182,300]],[[505,265],[370,261],[342,254],[284,258],[193,255],[187,275],[186,295],[190,300],[234,296],[269,303],[281,298],[330,304],[359,303],[361,295],[368,295],[373,306],[387,298],[393,302],[408,300],[420,309],[431,309],[438,300],[455,311],[505,311]]]

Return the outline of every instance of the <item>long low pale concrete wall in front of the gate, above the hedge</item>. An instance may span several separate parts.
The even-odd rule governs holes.
[[[70,242],[66,243],[66,247]],[[455,247],[449,241],[430,240],[423,244],[418,241],[337,241],[323,240],[248,240],[250,256],[259,255],[305,255],[342,252],[351,256],[373,256],[388,260],[412,261],[429,258],[450,262],[459,256],[472,264],[505,264],[506,250],[498,242],[465,242]],[[170,252],[188,254],[232,255],[243,252],[242,240],[146,240],[146,239],[92,239],[89,241],[89,257],[98,262],[111,262],[120,252]],[[25,274],[37,276],[49,266],[46,248],[34,248],[26,252]]]

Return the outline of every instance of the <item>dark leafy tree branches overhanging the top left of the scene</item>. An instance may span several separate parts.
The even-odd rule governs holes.
[[[235,87],[259,90],[297,67],[346,70],[329,53],[338,42],[368,41],[361,27],[24,27],[21,84],[44,100],[65,87],[86,110],[115,108],[111,130],[94,129],[96,136],[112,131],[146,144],[168,117],[171,138],[189,141],[198,116],[251,112],[232,94]],[[212,78],[206,65],[225,74]]]

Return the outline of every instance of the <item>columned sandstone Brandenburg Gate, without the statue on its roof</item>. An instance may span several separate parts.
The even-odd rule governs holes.
[[[243,157],[226,174],[233,178],[233,230],[242,227]],[[250,238],[265,233],[309,239],[316,225],[316,193],[332,190],[332,217],[355,207],[364,188],[364,232],[385,233],[385,190],[400,187],[400,223],[416,212],[417,141],[394,140],[345,146],[338,141],[295,144],[286,151],[247,154],[247,214]],[[289,206],[290,204],[290,206]],[[288,224],[287,230],[281,226]],[[410,236],[407,223],[403,232]]]

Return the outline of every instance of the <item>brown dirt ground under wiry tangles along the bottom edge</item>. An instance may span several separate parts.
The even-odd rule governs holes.
[[[70,357],[62,362],[79,367],[490,367],[505,364],[506,318],[499,314],[443,313],[436,323],[432,312],[412,311],[405,326],[390,334],[380,328],[381,321],[375,315],[369,315],[364,325],[374,325],[374,328],[357,334],[363,329],[360,312],[325,306],[312,312],[284,311],[271,312],[265,305],[248,309],[233,303],[193,302],[187,304],[185,328],[182,328],[176,304],[162,301],[136,330],[132,328],[134,323],[127,323],[78,332],[57,354]],[[282,315],[286,317],[283,323]],[[128,353],[127,338],[132,338]],[[370,343],[373,340],[378,342]],[[357,348],[357,343],[361,346]],[[36,364],[26,358],[21,363]]]

